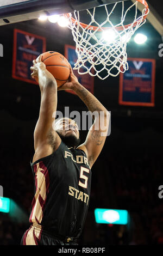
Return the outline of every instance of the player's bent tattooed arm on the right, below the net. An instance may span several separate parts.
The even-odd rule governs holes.
[[[104,146],[106,135],[109,127],[110,114],[106,108],[93,96],[86,88],[84,88],[74,76],[71,69],[70,82],[67,82],[60,89],[71,89],[85,103],[90,112],[95,113],[92,116],[94,122],[91,126],[85,142],[78,147],[85,151],[89,160],[90,168],[95,163],[97,157],[101,153]]]

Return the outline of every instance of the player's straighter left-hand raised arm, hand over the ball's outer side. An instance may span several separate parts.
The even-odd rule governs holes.
[[[35,155],[33,161],[36,161],[52,154],[52,148],[48,144],[48,136],[54,121],[53,113],[57,109],[57,82],[46,69],[45,64],[41,62],[41,56],[33,60],[33,66],[30,69],[33,71],[31,76],[39,82],[41,91],[39,119],[34,131]],[[57,133],[55,133],[54,139],[56,139],[56,143],[60,143]]]

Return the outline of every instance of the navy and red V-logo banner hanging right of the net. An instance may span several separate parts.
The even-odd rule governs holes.
[[[155,59],[128,58],[128,65],[120,74],[119,104],[154,107]]]

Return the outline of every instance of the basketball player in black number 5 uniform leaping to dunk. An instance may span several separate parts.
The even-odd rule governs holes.
[[[70,78],[60,88],[41,62],[41,56],[33,60],[30,69],[39,82],[41,105],[34,131],[35,154],[30,163],[35,180],[31,226],[21,245],[77,245],[89,206],[91,167],[101,153],[108,131],[108,111],[78,82],[71,66]],[[73,90],[89,111],[103,111],[105,131],[101,126],[95,129],[99,123],[96,117],[86,141],[79,145],[79,129],[74,120],[62,118],[53,123],[57,90]]]

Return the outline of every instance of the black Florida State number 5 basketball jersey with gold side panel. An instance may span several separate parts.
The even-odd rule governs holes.
[[[49,234],[79,237],[89,206],[91,169],[83,150],[61,142],[51,155],[30,162],[35,196],[29,222]]]

